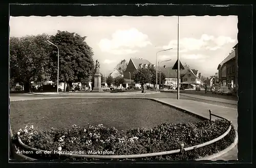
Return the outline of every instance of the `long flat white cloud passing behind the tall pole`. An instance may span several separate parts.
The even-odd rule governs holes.
[[[225,44],[234,43],[236,40],[226,36],[209,36],[203,34],[200,39],[195,38],[182,38],[180,39],[180,51],[187,52],[193,50],[217,50],[223,47]],[[163,49],[174,48],[177,49],[177,40],[171,40],[168,45],[163,46]]]

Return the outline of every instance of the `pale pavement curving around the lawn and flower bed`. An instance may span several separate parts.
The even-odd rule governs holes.
[[[150,92],[149,92],[150,93]],[[208,110],[211,109],[212,113],[216,115],[220,115],[222,117],[227,118],[228,120],[232,121],[234,127],[238,128],[238,112],[237,107],[232,106],[232,108],[227,107],[225,105],[218,105],[214,102],[202,102],[202,101],[195,101],[193,99],[187,99],[182,96],[180,96],[180,99],[177,100],[177,95],[173,93],[158,93],[158,94],[146,94],[145,96],[141,93],[136,94],[90,94],[90,95],[52,95],[52,96],[46,96],[46,95],[32,95],[32,94],[10,94],[10,101],[19,101],[19,100],[36,100],[36,99],[55,99],[55,98],[90,98],[90,97],[98,97],[98,98],[107,98],[107,97],[122,97],[122,98],[150,98],[155,101],[161,102],[166,105],[170,105],[173,107],[181,108],[186,111],[190,111],[191,113],[194,113],[196,115],[199,115],[204,118],[209,118],[209,112]],[[215,117],[212,117],[213,120],[215,120]],[[233,148],[228,153],[215,158],[214,160],[237,160],[238,159],[238,149],[237,146]]]

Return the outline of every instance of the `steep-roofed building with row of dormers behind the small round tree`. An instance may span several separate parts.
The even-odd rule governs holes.
[[[126,70],[123,72],[123,78],[125,81],[126,87],[130,85],[135,85],[135,87],[141,87],[140,84],[134,82],[133,73],[139,68],[149,68],[154,67],[155,65],[150,63],[147,60],[140,58],[131,58],[129,63],[127,64]]]

